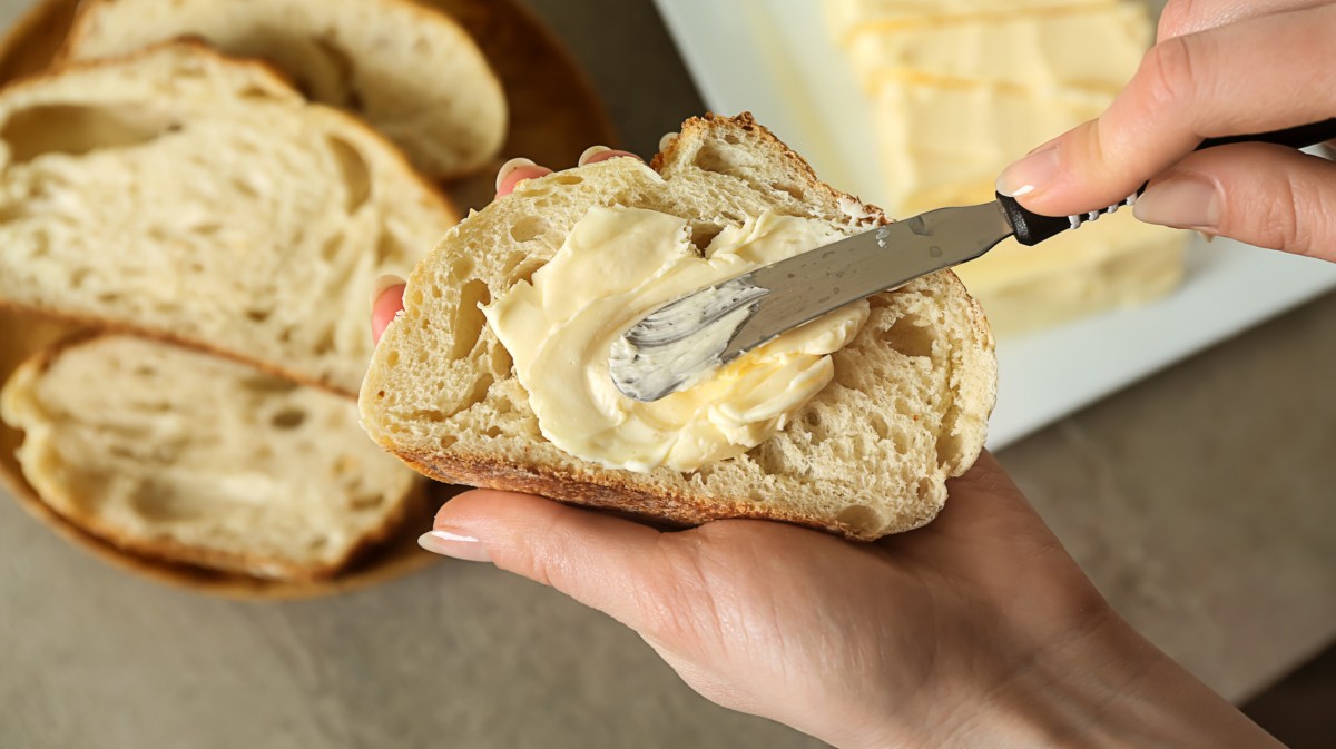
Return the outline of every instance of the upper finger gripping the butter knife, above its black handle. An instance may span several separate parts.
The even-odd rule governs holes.
[[[1110,206],[1204,138],[1328,119],[1333,65],[1336,5],[1174,37],[1150,51],[1104,116],[1009,167],[998,191],[1054,216]]]

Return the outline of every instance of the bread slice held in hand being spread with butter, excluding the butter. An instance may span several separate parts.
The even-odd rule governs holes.
[[[546,442],[478,304],[529,278],[595,206],[680,216],[697,247],[763,211],[842,234],[886,222],[820,183],[749,115],[687,121],[652,166],[613,159],[528,180],[446,235],[409,278],[405,311],[362,386],[362,425],[378,443],[445,481],[676,523],[772,518],[876,538],[937,515],[945,481],[983,446],[997,381],[987,323],[950,272],[872,298],[863,331],[834,355],[834,382],[736,459],[632,473]]]

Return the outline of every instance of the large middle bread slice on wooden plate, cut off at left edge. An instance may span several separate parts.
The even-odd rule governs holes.
[[[0,304],[351,394],[375,279],[454,220],[357,119],[198,44],[0,92]]]

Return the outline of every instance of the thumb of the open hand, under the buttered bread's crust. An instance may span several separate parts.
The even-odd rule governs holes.
[[[644,591],[669,577],[659,538],[659,531],[628,519],[528,494],[477,490],[448,502],[421,543],[438,554],[490,561],[641,629]]]

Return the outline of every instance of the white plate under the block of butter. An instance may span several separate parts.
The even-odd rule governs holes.
[[[823,0],[656,3],[712,111],[755,113],[822,179],[878,203],[872,116],[830,41]],[[1197,240],[1188,263],[1182,288],[1161,302],[999,340],[989,446],[1336,288],[1336,264],[1230,240]]]

